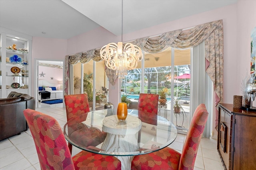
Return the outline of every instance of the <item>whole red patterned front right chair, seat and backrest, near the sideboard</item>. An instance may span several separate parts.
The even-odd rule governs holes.
[[[166,147],[149,154],[135,156],[131,170],[193,170],[208,112],[204,104],[200,104],[192,117],[182,153]]]

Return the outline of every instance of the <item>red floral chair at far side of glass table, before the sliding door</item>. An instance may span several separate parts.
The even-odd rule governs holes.
[[[156,125],[157,119],[154,119],[154,117],[158,112],[158,99],[158,94],[140,94],[138,101],[138,117],[142,122]],[[152,114],[145,116],[145,113]]]

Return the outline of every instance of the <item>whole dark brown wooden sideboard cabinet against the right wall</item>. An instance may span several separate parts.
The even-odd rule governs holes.
[[[256,112],[219,104],[218,144],[226,170],[256,170]]]

